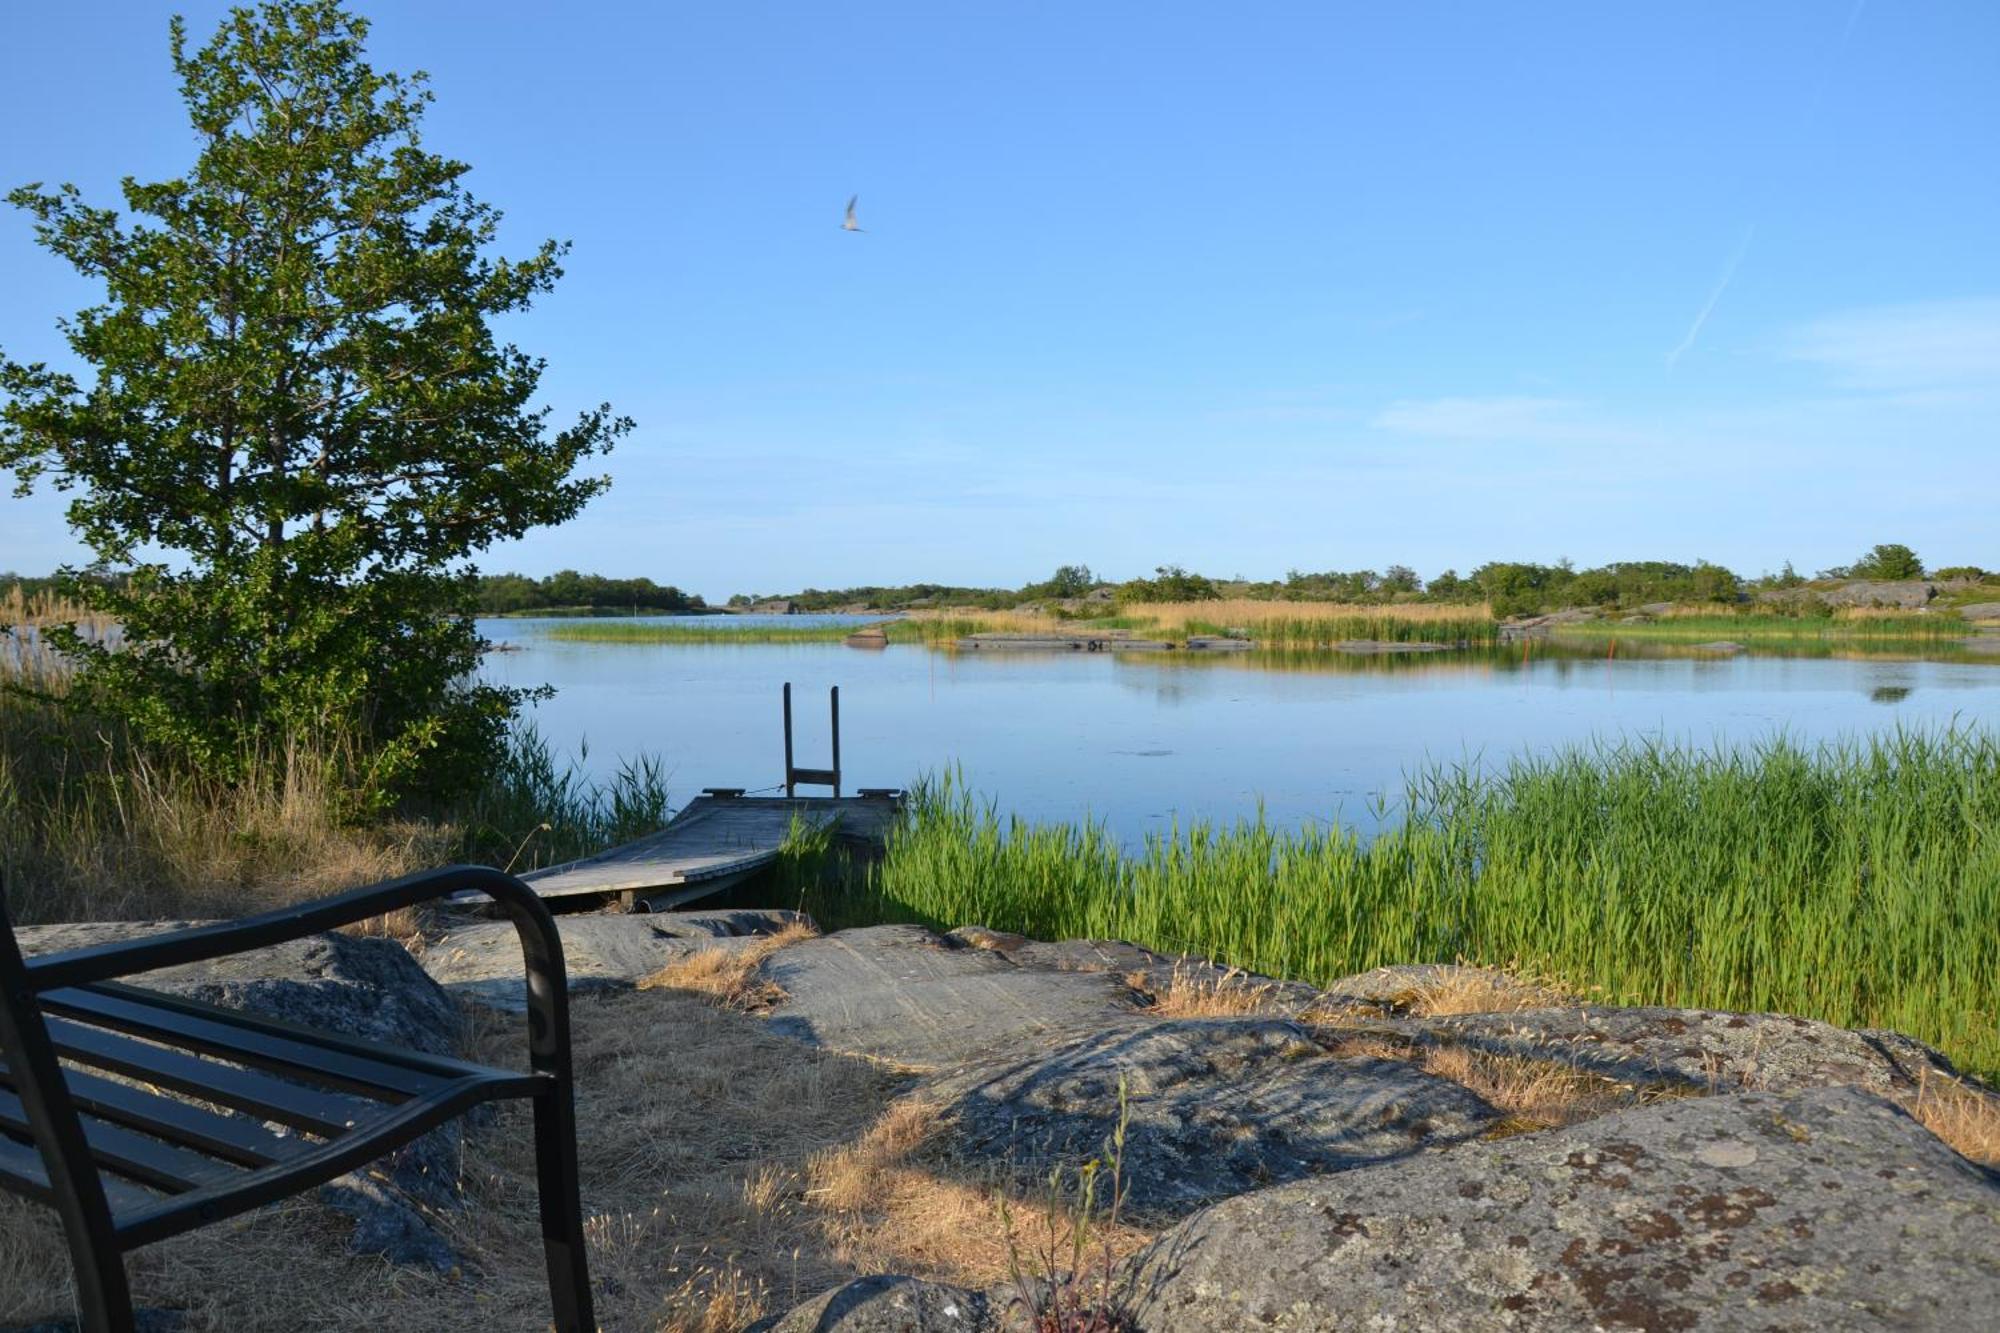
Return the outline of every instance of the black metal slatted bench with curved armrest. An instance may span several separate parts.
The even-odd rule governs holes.
[[[530,1071],[486,1069],[118,983],[476,891],[520,931]],[[524,883],[450,867],[262,917],[24,961],[0,911],[0,1189],[62,1217],[84,1333],[130,1333],[124,1251],[344,1175],[468,1107],[534,1101],[560,1333],[596,1327],[562,939]],[[106,1075],[118,1075],[106,1077]]]

